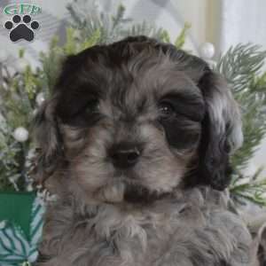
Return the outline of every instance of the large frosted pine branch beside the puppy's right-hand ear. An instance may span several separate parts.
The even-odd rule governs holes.
[[[266,74],[262,72],[266,51],[257,45],[230,48],[217,63],[242,110],[244,144],[232,157],[234,168],[246,168],[266,133]]]

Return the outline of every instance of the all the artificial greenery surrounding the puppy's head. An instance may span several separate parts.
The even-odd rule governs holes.
[[[26,66],[22,71],[10,70],[0,62],[0,190],[27,191],[31,189],[28,170],[32,167],[34,146],[30,136],[26,142],[13,137],[18,127],[30,129],[30,122],[37,109],[36,97],[43,93],[48,98],[62,61],[67,55],[75,54],[98,43],[113,43],[127,35],[148,35],[161,42],[170,42],[167,30],[153,27],[146,21],[134,23],[125,18],[125,8],[119,5],[114,15],[98,10],[94,1],[76,0],[67,6],[71,14],[66,27],[66,43],[59,45],[53,38],[50,48],[42,52],[39,66]],[[173,43],[182,48],[190,25],[184,29]],[[229,84],[234,97],[242,108],[245,142],[232,157],[233,178],[231,195],[235,199],[246,198],[266,205],[263,193],[266,182],[250,176],[247,183],[245,168],[254,156],[266,133],[266,74],[262,72],[266,52],[252,44],[239,44],[227,51],[215,66]],[[20,51],[20,60],[24,60]]]

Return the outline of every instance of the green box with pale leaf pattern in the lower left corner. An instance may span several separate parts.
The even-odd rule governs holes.
[[[43,229],[43,200],[34,192],[0,192],[0,265],[35,262]]]

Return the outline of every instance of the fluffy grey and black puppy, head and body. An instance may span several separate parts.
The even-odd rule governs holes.
[[[38,265],[255,265],[218,192],[239,108],[203,60],[145,36],[91,47],[66,59],[35,124],[37,178],[58,197]]]

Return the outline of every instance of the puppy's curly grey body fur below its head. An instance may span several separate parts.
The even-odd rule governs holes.
[[[225,199],[201,188],[148,206],[59,200],[38,265],[256,265],[251,236]]]

